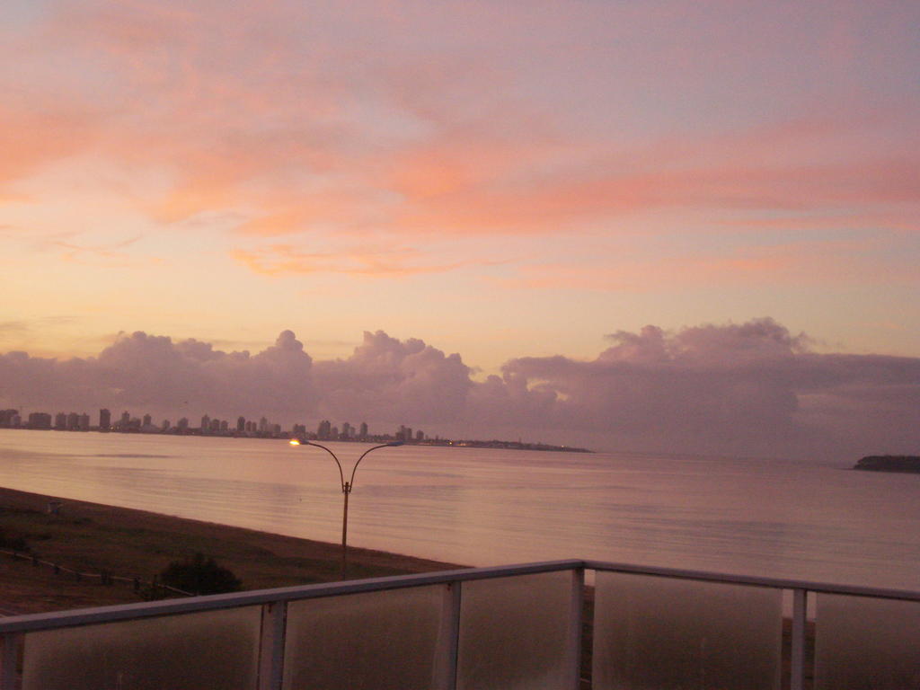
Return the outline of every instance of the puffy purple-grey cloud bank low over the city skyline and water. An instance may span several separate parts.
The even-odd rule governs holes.
[[[215,350],[143,332],[98,357],[0,355],[0,404],[129,408],[196,420],[404,423],[443,435],[603,449],[845,457],[920,449],[920,358],[826,354],[772,319],[609,336],[591,361],[521,357],[474,376],[459,354],[365,332],[347,359],[314,361],[293,332]]]

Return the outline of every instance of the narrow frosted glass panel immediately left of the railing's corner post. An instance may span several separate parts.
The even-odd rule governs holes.
[[[459,690],[566,688],[572,573],[463,583]]]

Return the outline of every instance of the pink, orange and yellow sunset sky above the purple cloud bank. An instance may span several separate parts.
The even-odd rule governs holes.
[[[768,317],[915,363],[917,27],[913,0],[6,0],[0,353],[291,329],[334,362],[379,330],[483,382]]]

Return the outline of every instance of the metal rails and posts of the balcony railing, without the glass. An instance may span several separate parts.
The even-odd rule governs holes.
[[[466,582],[496,578],[515,578],[539,573],[568,571],[571,574],[569,594],[568,635],[565,641],[565,681],[567,690],[581,686],[581,653],[583,628],[592,621],[583,617],[586,587],[585,572],[623,573],[665,578],[680,581],[713,582],[735,585],[753,585],[760,588],[791,592],[791,641],[788,675],[784,680],[791,690],[802,690],[806,677],[807,611],[811,596],[815,594],[845,594],[854,597],[920,602],[920,592],[847,586],[812,581],[758,578],[698,570],[643,567],[596,560],[559,560],[494,568],[446,570],[417,575],[374,578],[359,581],[342,581],[326,584],[285,587],[215,594],[188,599],[174,599],[139,604],[103,606],[72,611],[17,615],[0,619],[0,637],[3,651],[0,656],[0,690],[17,690],[22,682],[21,664],[25,638],[32,633],[94,626],[99,624],[137,621],[164,616],[213,612],[249,606],[261,606],[261,632],[258,652],[259,690],[280,690],[285,664],[285,634],[289,604],[311,599],[345,597],[363,592],[385,592],[443,586],[440,629],[437,635],[432,680],[436,690],[455,690],[457,687],[458,648],[461,628],[461,609],[464,602],[463,585]],[[587,610],[590,612],[591,607]],[[589,614],[590,615],[590,614]],[[917,640],[920,645],[920,640]]]

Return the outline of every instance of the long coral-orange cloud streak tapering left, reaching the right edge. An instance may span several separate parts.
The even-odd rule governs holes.
[[[806,130],[807,132],[807,130]],[[436,227],[464,233],[548,232],[587,220],[668,208],[731,212],[846,209],[887,214],[899,223],[920,218],[920,155],[861,155],[839,163],[818,160],[763,163],[759,142],[713,157],[735,137],[710,146],[707,158],[662,160],[637,156],[600,166],[560,169],[539,178],[499,180],[417,199],[400,216],[406,229]],[[810,144],[808,138],[788,145]],[[678,149],[680,150],[680,149]],[[684,144],[686,150],[686,144]],[[696,155],[703,152],[696,150]],[[718,217],[718,216],[717,216]],[[809,227],[809,219],[799,219]]]

